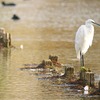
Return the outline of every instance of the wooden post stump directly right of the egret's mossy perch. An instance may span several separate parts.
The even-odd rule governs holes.
[[[94,86],[94,73],[93,72],[86,72],[85,80],[89,86]]]

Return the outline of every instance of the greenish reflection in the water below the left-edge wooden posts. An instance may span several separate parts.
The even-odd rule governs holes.
[[[5,96],[6,90],[6,78],[7,78],[7,69],[10,66],[10,49],[0,49],[0,98],[2,99]]]

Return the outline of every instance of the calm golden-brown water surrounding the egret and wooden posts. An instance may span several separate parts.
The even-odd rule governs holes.
[[[0,0],[1,2],[2,0]],[[24,64],[39,64],[49,54],[59,62],[75,66],[74,37],[77,28],[88,18],[100,23],[99,0],[4,0],[15,7],[0,4],[0,27],[12,34],[16,48],[0,50],[0,100],[100,100],[82,98],[60,80],[41,79],[32,71],[21,71]],[[19,21],[11,20],[17,14]],[[21,50],[20,45],[24,46]],[[91,59],[92,58],[92,59]],[[100,28],[95,26],[93,46],[85,56],[85,65],[100,74]]]

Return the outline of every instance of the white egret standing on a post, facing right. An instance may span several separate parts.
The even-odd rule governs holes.
[[[80,59],[81,66],[84,66],[84,54],[92,45],[94,36],[93,24],[100,26],[100,24],[97,24],[94,20],[88,19],[86,20],[85,25],[81,25],[76,32],[75,49],[77,58]]]

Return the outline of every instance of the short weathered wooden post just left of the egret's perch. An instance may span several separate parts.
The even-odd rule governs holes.
[[[71,79],[74,76],[74,67],[67,67],[65,66],[65,77],[67,77],[68,79]]]

